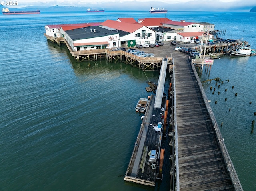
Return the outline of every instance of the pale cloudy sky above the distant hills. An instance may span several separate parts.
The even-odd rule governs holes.
[[[2,0],[1,0],[2,1]],[[7,2],[8,0],[4,0]],[[82,6],[105,10],[143,10],[150,7],[166,8],[170,11],[250,11],[256,0],[17,0],[20,8],[26,6]],[[1,2],[2,4],[2,2]]]

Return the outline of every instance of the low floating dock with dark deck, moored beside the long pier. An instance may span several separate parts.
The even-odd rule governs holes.
[[[159,171],[160,146],[162,140],[162,129],[160,131],[154,130],[158,128],[158,123],[163,124],[162,114],[164,114],[166,107],[166,96],[162,100],[162,108],[154,108],[155,96],[151,95],[148,109],[143,118],[140,132],[134,145],[132,157],[128,165],[124,180],[132,181],[144,185],[155,186],[155,181]],[[156,162],[149,162],[149,155],[151,150],[156,150]]]

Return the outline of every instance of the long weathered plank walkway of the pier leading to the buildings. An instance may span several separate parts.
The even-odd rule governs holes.
[[[176,190],[242,191],[195,68],[174,58],[173,76]]]

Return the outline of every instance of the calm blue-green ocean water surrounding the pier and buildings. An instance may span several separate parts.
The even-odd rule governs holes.
[[[124,181],[141,123],[134,106],[150,95],[146,81],[157,83],[158,72],[105,60],[88,69],[43,35],[48,24],[165,16],[210,22],[226,31],[222,37],[256,48],[256,13],[249,12],[0,15],[0,191],[169,190],[168,178],[156,188]],[[215,59],[201,79],[216,77],[229,82],[203,83],[206,95],[244,191],[256,191],[256,57]]]

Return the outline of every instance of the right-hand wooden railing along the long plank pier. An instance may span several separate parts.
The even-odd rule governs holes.
[[[193,69],[193,71],[194,71],[194,74],[195,74],[195,76],[196,76],[196,80],[197,80],[198,82],[200,82],[200,78],[199,78],[199,76],[198,76],[198,74],[197,74],[197,72],[196,72],[195,67],[192,65],[192,63],[190,63],[190,65],[191,65],[191,67],[192,67],[192,69]],[[239,179],[238,179],[238,175],[236,174],[236,170],[235,170],[235,168],[234,168],[234,165],[233,165],[233,163],[232,163],[232,161],[231,161],[231,159],[230,159],[230,156],[229,156],[229,154],[228,154],[228,150],[227,150],[227,148],[226,148],[226,146],[225,146],[225,144],[224,144],[224,139],[222,138],[222,135],[221,135],[221,133],[220,133],[220,129],[219,129],[219,127],[218,127],[218,123],[217,123],[217,121],[216,121],[216,118],[215,118],[215,116],[214,116],[214,113],[212,112],[212,108],[211,108],[211,106],[210,106],[210,104],[209,104],[209,102],[208,102],[208,99],[207,99],[207,97],[206,97],[206,94],[205,94],[205,92],[204,92],[204,88],[203,88],[203,86],[202,86],[202,83],[198,83],[198,85],[199,85],[199,87],[200,87],[200,91],[201,91],[201,93],[202,93],[202,96],[203,96],[203,99],[204,99],[204,104],[206,105],[206,109],[208,110],[208,113],[209,113],[209,115],[210,115],[210,117],[211,117],[212,124],[214,125],[214,130],[215,130],[215,132],[216,132],[216,137],[217,137],[217,139],[218,139],[218,144],[219,144],[219,146],[220,146],[220,150],[221,150],[221,152],[222,152],[222,156],[223,156],[223,158],[224,158],[225,165],[226,165],[226,168],[227,168],[227,170],[228,170],[228,173],[229,173],[229,175],[230,175],[230,177],[231,177],[231,181],[232,181],[232,183],[233,183],[233,186],[234,186],[234,188],[235,188],[236,191],[243,191],[242,185],[241,185],[241,183],[240,183],[240,181],[239,181]],[[175,95],[175,93],[174,93],[174,95]],[[175,99],[175,97],[174,97],[174,99]],[[174,109],[176,109],[176,108],[174,108]],[[175,111],[175,110],[174,110],[174,111]],[[176,126],[175,126],[175,129],[176,129]],[[176,148],[177,148],[177,146],[178,146],[178,145],[176,145]],[[177,177],[178,177],[178,176],[177,176]],[[178,190],[177,190],[177,191],[178,191]]]

